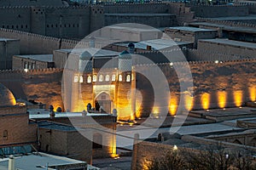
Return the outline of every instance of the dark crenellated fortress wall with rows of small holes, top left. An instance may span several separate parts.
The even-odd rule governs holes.
[[[0,9],[2,28],[50,37],[80,38],[90,33],[90,6],[49,7],[45,3],[44,7],[38,5]]]

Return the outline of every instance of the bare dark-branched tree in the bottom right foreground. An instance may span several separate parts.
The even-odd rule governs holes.
[[[253,153],[245,149],[224,148],[221,143],[201,150],[170,150],[154,159],[148,170],[256,170]]]

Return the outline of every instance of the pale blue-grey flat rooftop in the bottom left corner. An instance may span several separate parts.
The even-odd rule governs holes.
[[[15,157],[15,169],[19,170],[42,170],[47,163],[49,164],[49,167],[71,164],[84,164],[84,167],[87,167],[87,163],[85,161],[77,161],[67,157],[52,156],[40,152],[38,155],[32,154],[28,156]],[[8,165],[9,159],[0,159],[1,170],[8,169]]]

